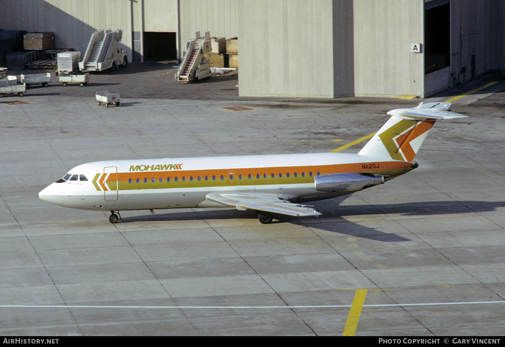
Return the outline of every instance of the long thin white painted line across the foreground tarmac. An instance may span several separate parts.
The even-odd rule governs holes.
[[[363,290],[368,291],[368,290]],[[505,304],[502,301],[473,301],[456,303],[419,304],[364,304],[363,307],[419,307],[453,305]],[[86,305],[0,305],[0,308],[88,308],[88,309],[310,309],[310,308],[349,308],[352,305],[308,305],[308,306],[86,306]]]

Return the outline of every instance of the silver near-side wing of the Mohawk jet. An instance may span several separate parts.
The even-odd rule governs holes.
[[[237,210],[246,209],[265,211],[271,213],[287,214],[295,217],[318,216],[322,213],[316,211],[311,206],[300,205],[289,202],[285,199],[295,198],[287,195],[273,194],[246,194],[246,193],[210,193],[207,199],[219,202],[224,205],[234,206]]]

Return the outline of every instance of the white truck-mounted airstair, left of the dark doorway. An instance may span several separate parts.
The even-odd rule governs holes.
[[[111,69],[114,71],[117,67],[126,67],[128,53],[118,48],[118,42],[121,41],[122,36],[122,30],[95,31],[89,39],[82,62],[79,62],[79,70],[105,71]]]

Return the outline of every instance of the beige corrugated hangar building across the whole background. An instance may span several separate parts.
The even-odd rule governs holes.
[[[240,96],[429,96],[505,69],[495,0],[3,0],[0,29],[84,51],[122,29],[130,62],[181,58],[195,31],[239,40]]]

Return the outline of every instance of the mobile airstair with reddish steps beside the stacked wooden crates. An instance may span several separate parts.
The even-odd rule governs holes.
[[[212,50],[210,36],[207,31],[205,37],[201,38],[200,32],[197,31],[196,38],[187,42],[186,54],[175,74],[178,82],[188,83],[211,76],[211,65],[209,60],[204,58],[204,54]]]

